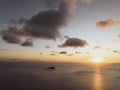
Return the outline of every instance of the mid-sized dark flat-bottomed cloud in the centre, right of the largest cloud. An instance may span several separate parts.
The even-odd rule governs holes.
[[[58,47],[85,47],[88,45],[86,40],[78,39],[78,38],[68,38],[62,45],[58,45]]]

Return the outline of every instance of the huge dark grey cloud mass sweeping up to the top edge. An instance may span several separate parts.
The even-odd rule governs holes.
[[[58,6],[54,9],[39,12],[29,19],[12,20],[15,25],[1,32],[3,40],[8,43],[18,43],[22,37],[56,40],[60,37],[59,29],[67,25],[76,1],[59,0]]]

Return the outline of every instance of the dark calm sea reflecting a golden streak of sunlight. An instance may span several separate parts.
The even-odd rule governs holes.
[[[120,90],[120,64],[0,61],[0,90]]]

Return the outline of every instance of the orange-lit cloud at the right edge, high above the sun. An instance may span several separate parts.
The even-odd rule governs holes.
[[[114,21],[112,19],[96,22],[96,27],[100,29],[108,29],[110,27],[120,26],[120,21]]]

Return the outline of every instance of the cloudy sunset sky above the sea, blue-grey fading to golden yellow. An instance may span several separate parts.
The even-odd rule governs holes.
[[[0,58],[120,62],[120,0],[0,0]]]

